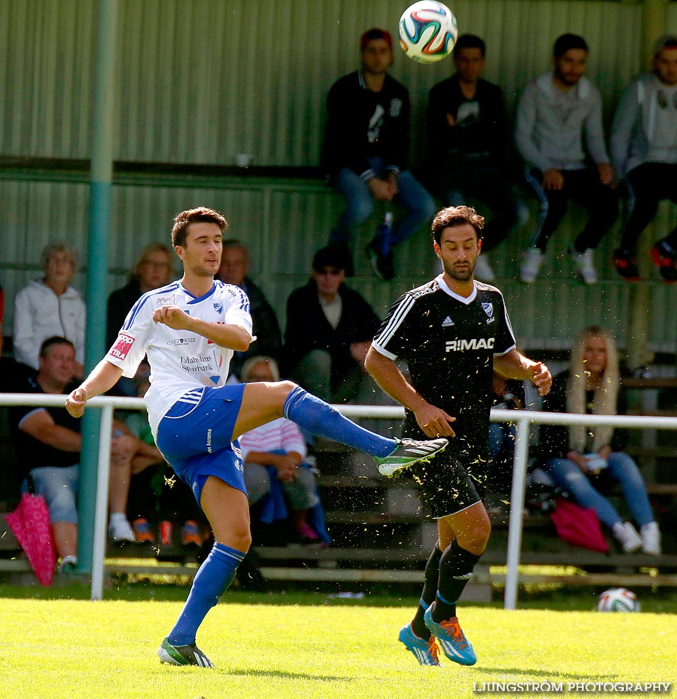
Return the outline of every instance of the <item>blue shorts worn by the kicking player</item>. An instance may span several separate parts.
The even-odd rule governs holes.
[[[157,427],[157,448],[198,504],[208,476],[247,494],[241,452],[231,443],[243,391],[244,384],[189,391]]]

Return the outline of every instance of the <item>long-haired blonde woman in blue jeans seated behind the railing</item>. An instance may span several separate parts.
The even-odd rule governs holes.
[[[543,400],[546,412],[615,415],[620,395],[618,354],[611,333],[590,326],[579,333],[569,370],[555,377]],[[642,549],[660,555],[660,531],[654,520],[639,468],[620,451],[622,440],[607,425],[543,425],[541,454],[555,483],[582,507],[592,507],[625,552]],[[623,521],[600,490],[619,483],[641,535]]]

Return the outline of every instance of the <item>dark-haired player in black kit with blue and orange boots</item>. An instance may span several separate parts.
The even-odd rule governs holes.
[[[541,395],[553,381],[545,365],[515,349],[501,292],[473,279],[483,227],[483,217],[467,206],[436,215],[434,250],[443,272],[397,300],[365,363],[380,387],[406,408],[404,435],[454,438],[434,463],[408,469],[439,527],[418,610],[399,633],[422,665],[439,665],[435,639],[450,660],[476,662],[458,624],[456,602],[491,531],[482,497],[492,372],[531,380]],[[406,360],[411,380],[395,359]]]

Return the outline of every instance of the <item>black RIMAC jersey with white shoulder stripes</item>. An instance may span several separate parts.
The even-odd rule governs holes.
[[[503,294],[476,281],[464,298],[439,275],[397,300],[373,346],[390,359],[404,359],[416,391],[456,418],[450,443],[457,454],[485,460],[493,357],[515,347]],[[405,431],[417,430],[408,414]]]

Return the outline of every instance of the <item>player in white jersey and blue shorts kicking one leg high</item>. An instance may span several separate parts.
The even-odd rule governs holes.
[[[214,281],[226,226],[220,213],[203,207],[177,215],[171,236],[183,278],[141,296],[108,354],[66,400],[71,415],[80,417],[89,398],[111,389],[122,374],[133,376],[148,355],[146,400],[157,447],[190,485],[215,538],[158,655],[163,663],[206,668],[213,664],[195,644],[197,629],[251,543],[242,461],[232,445],[239,435],[286,417],[371,454],[386,474],[427,461],[448,443],[381,437],[290,381],[225,385],[234,350],[245,351],[255,339],[247,296]]]

